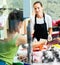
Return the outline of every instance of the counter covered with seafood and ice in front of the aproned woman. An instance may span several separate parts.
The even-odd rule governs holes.
[[[36,45],[32,43],[34,45],[32,46],[32,50],[33,47],[35,47],[35,50],[33,50],[33,52],[31,53],[31,57],[32,57],[31,64],[32,65],[49,65],[49,64],[60,65],[60,38],[56,38],[51,42],[47,42],[48,44],[44,42],[36,43]],[[42,49],[41,49],[41,44],[43,44]],[[39,49],[36,50],[37,48]],[[28,49],[22,48],[22,46],[20,45],[17,51],[17,55],[14,58],[14,62],[27,63],[28,62],[27,50]],[[58,55],[58,57],[56,57],[56,55]]]

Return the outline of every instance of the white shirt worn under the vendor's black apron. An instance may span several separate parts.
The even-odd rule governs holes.
[[[49,16],[49,15],[47,15],[47,14],[45,14],[45,22],[46,22],[46,24],[47,24],[47,30],[49,29],[49,28],[52,28],[52,18]],[[36,23],[37,24],[43,24],[44,23],[44,18],[36,18]],[[34,25],[35,25],[35,16],[32,16],[31,17],[31,32],[34,30]]]

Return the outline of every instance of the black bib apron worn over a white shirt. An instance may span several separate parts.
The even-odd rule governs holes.
[[[35,25],[34,25],[34,36],[33,38],[36,38],[38,41],[40,38],[47,39],[48,38],[48,32],[47,32],[47,25],[45,22],[45,15],[43,14],[43,24],[37,24],[36,23],[36,15],[35,15]]]

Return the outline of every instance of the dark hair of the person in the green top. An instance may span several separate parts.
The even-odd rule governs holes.
[[[23,12],[19,10],[14,10],[9,14],[8,17],[9,21],[9,32],[12,33],[13,31],[18,31],[18,24],[19,22],[23,21]]]

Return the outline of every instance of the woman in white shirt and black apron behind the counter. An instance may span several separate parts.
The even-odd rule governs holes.
[[[33,39],[39,41],[42,39],[52,40],[52,19],[44,13],[43,5],[40,1],[33,4],[35,15],[31,18],[31,34]]]

